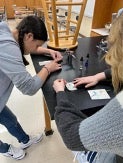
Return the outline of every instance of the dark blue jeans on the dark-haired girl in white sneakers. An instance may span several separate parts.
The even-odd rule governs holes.
[[[17,121],[16,116],[5,106],[0,113],[0,124],[4,125],[9,133],[17,138],[19,142],[27,143],[29,136],[22,129],[21,125]],[[0,153],[8,151],[9,145],[0,141]]]

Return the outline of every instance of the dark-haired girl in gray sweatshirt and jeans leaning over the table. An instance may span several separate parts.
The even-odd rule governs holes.
[[[16,116],[6,106],[15,85],[23,94],[34,95],[50,73],[61,69],[59,52],[41,46],[47,41],[47,31],[43,21],[36,16],[25,17],[14,31],[6,22],[0,22],[0,124],[17,138],[20,147],[0,141],[0,153],[14,159],[25,156],[23,149],[42,140],[42,134],[31,137],[22,129]],[[49,53],[54,59],[46,64],[38,74],[31,76],[25,65],[24,55],[29,53]]]

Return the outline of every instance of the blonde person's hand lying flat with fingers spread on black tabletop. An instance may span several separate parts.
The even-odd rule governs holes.
[[[96,75],[93,76],[87,76],[87,77],[81,77],[81,78],[76,78],[74,79],[73,83],[75,87],[78,87],[81,84],[85,85],[85,88],[91,87],[96,85],[99,82],[98,78]]]

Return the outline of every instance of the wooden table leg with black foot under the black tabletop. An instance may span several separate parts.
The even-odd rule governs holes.
[[[43,97],[43,103],[44,103],[44,117],[45,117],[45,135],[48,136],[53,134],[53,130],[51,129],[51,118],[44,97]]]

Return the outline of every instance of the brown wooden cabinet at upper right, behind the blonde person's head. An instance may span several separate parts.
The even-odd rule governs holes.
[[[123,8],[123,0],[95,0],[91,36],[104,35],[105,24],[111,23],[112,13],[120,8]],[[104,30],[102,34],[100,30]]]

